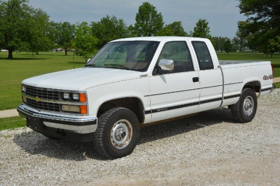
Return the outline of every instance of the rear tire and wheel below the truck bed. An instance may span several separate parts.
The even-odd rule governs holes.
[[[234,120],[242,123],[250,122],[257,112],[257,95],[251,88],[243,89],[238,102],[231,106]]]

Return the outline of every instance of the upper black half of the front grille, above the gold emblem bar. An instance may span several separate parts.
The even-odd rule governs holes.
[[[26,86],[25,94],[34,98],[38,97],[46,100],[59,100],[59,91],[49,90],[46,88]]]

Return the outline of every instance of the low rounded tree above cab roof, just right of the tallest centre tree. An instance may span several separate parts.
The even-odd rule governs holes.
[[[188,36],[188,34],[185,32],[182,22],[175,21],[165,25],[156,36]]]

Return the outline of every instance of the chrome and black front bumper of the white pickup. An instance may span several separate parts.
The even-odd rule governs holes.
[[[17,111],[26,119],[27,127],[50,137],[92,141],[92,133],[97,129],[97,117],[41,113],[23,104],[17,107]]]

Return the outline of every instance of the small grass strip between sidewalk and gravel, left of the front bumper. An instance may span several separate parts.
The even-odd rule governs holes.
[[[26,126],[26,120],[20,116],[0,118],[0,123],[0,131]]]

